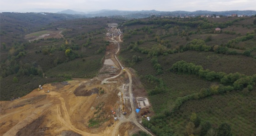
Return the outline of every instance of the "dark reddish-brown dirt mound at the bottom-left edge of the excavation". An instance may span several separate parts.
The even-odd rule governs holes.
[[[48,127],[42,127],[44,116],[34,120],[31,124],[25,126],[16,133],[16,136],[43,136],[44,131],[48,130]],[[71,135],[69,135],[71,136]]]

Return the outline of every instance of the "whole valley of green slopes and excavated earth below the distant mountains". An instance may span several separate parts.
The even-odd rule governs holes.
[[[256,16],[17,15],[0,18],[0,135],[255,135]]]

